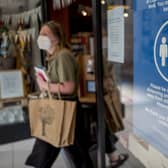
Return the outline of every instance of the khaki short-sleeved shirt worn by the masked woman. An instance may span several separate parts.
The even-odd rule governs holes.
[[[51,83],[73,81],[75,90],[72,97],[77,96],[78,90],[78,65],[68,49],[62,49],[48,59],[48,76]]]

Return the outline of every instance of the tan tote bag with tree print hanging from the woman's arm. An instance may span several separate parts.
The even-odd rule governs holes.
[[[60,97],[60,96],[58,96]],[[76,101],[49,98],[29,100],[31,135],[55,147],[74,143]]]

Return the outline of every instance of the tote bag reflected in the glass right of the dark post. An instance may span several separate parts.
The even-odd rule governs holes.
[[[105,118],[107,125],[113,133],[124,129],[122,119],[122,104],[120,100],[120,92],[117,87],[114,87],[104,96],[105,100]]]

